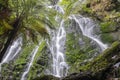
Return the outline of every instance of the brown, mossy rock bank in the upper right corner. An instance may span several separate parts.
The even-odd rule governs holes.
[[[102,25],[106,26],[109,22],[120,23],[120,2],[119,0],[87,0],[86,4],[82,6],[80,14],[90,16]],[[110,28],[111,30],[114,28]],[[106,30],[104,30],[106,32]]]

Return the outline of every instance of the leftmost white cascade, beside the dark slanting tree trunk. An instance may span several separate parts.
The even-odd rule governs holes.
[[[18,37],[12,45],[9,46],[8,50],[3,57],[2,64],[8,63],[10,60],[13,60],[21,51],[22,47],[22,37]]]

